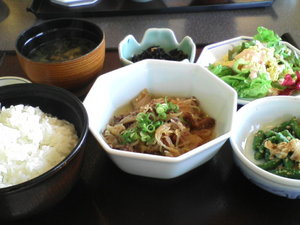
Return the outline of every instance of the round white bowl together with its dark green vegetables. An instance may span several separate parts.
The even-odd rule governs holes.
[[[230,142],[243,174],[275,195],[300,198],[300,98],[270,96],[238,110]]]

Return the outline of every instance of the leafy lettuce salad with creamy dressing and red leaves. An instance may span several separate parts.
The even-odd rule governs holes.
[[[239,98],[291,95],[300,90],[300,56],[264,27],[257,28],[253,40],[233,47],[208,69],[232,86]]]

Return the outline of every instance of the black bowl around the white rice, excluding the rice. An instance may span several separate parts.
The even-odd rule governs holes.
[[[88,117],[81,101],[72,93],[43,84],[3,86],[0,102],[5,107],[18,104],[39,107],[45,113],[72,123],[79,139],[71,153],[49,171],[23,183],[0,188],[0,220],[11,220],[45,211],[71,190],[83,161]]]

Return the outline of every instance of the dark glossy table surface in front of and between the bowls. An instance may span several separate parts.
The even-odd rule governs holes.
[[[116,51],[108,51],[103,72],[119,66]],[[26,77],[13,53],[2,59],[3,75]],[[66,198],[42,214],[7,224],[294,225],[300,223],[299,211],[300,200],[270,194],[246,179],[229,141],[204,165],[160,180],[121,171],[89,133],[81,178]]]

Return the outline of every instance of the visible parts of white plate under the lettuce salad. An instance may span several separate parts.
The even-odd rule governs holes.
[[[217,42],[211,45],[207,45],[203,48],[200,53],[199,58],[196,63],[207,68],[210,64],[221,60],[225,55],[227,55],[228,50],[231,50],[234,46],[240,45],[242,42],[253,40],[249,36],[240,36],[225,41]],[[282,41],[288,48],[297,52],[300,55],[300,50],[295,48],[288,42]],[[238,104],[245,105],[254,99],[238,98]]]

